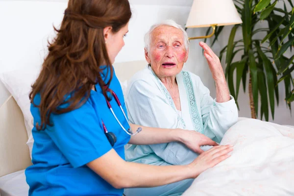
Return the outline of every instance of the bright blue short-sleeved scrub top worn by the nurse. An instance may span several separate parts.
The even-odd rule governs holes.
[[[106,72],[105,69],[104,75]],[[109,77],[101,75],[105,82],[109,80]],[[48,125],[44,131],[37,131],[35,126],[32,129],[35,140],[33,165],[25,170],[26,182],[30,187],[29,196],[123,195],[123,189],[115,189],[86,166],[112,149],[104,134],[101,119],[107,130],[117,136],[113,148],[123,159],[124,145],[130,139],[108,109],[99,85],[96,85],[96,89],[97,92],[91,91],[90,98],[80,108],[60,115],[52,114],[50,121],[53,126]],[[117,94],[127,114],[122,88],[115,73],[110,89]],[[39,105],[40,95],[34,98],[34,103]],[[123,126],[129,128],[114,98],[110,104]],[[39,109],[31,105],[31,113],[36,125],[40,122]]]

